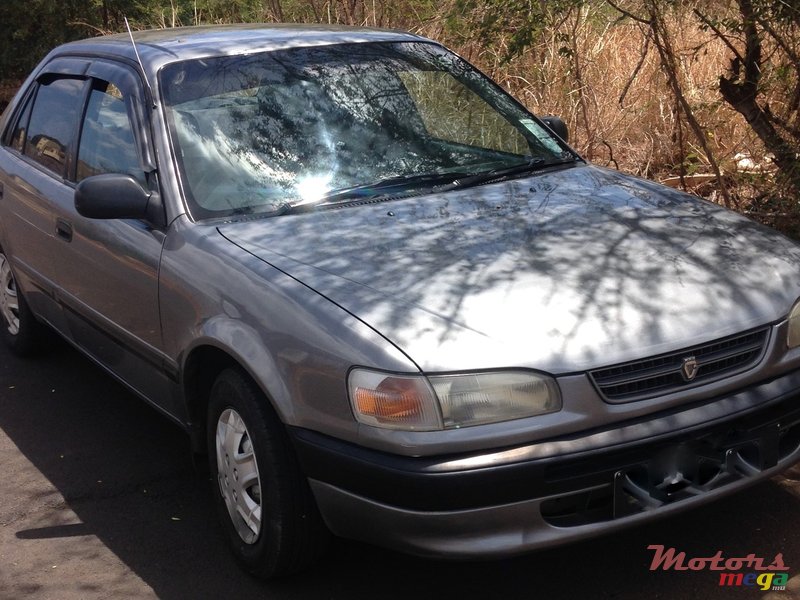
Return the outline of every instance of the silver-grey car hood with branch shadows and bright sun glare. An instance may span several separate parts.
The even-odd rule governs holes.
[[[798,246],[593,166],[220,233],[383,334],[424,371],[581,371],[775,322]]]

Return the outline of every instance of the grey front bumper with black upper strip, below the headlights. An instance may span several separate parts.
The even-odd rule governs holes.
[[[731,396],[527,446],[410,458],[290,429],[331,531],[503,556],[704,504],[800,460],[800,371]]]

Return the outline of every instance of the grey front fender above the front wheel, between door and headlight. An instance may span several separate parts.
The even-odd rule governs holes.
[[[173,223],[160,276],[164,344],[177,365],[201,346],[235,359],[284,423],[355,441],[353,365],[416,365],[324,296],[228,242],[212,225]]]

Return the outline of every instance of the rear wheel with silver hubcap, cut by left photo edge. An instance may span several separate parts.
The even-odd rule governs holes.
[[[33,316],[17,287],[11,262],[0,248],[0,326],[3,342],[17,356],[36,354],[42,347],[44,326]]]

